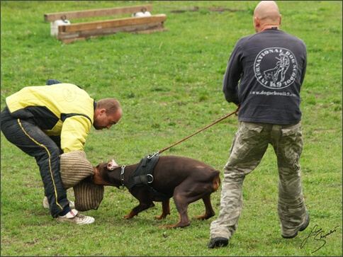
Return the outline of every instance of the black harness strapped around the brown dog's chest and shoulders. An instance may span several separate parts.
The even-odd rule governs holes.
[[[161,198],[170,198],[163,193],[157,192],[150,183],[154,181],[154,176],[152,176],[152,171],[154,171],[154,166],[156,166],[157,161],[159,160],[159,155],[154,154],[152,156],[147,155],[140,160],[137,168],[131,173],[130,181],[125,183],[125,187],[128,188],[129,191],[134,186],[146,186],[151,193]],[[122,175],[123,175],[123,168],[122,168]],[[123,182],[123,181],[122,181]]]

